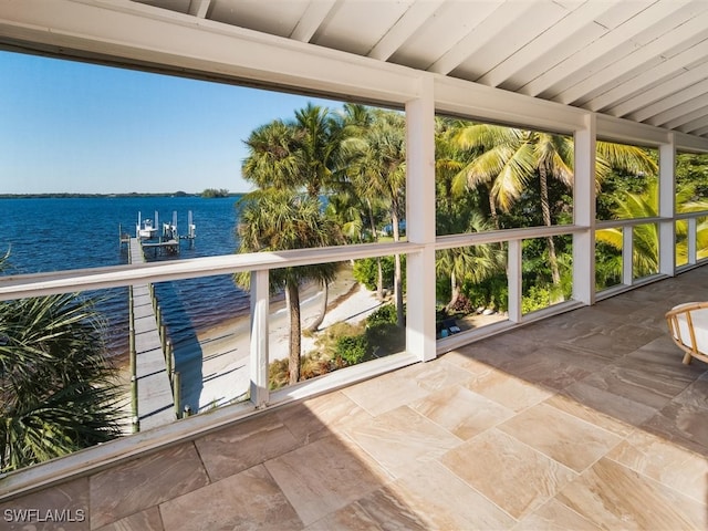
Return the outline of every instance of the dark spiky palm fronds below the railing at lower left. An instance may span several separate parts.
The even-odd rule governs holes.
[[[121,435],[104,329],[94,301],[77,294],[0,303],[0,471]]]

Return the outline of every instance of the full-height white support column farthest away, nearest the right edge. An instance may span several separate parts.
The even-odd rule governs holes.
[[[676,145],[674,134],[659,146],[659,273],[676,274]]]

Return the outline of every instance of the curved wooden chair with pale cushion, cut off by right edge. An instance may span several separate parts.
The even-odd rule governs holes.
[[[686,354],[688,365],[697,357],[708,363],[708,302],[687,302],[666,313],[668,330],[674,343]]]

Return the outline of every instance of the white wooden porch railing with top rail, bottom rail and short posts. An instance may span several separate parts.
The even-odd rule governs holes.
[[[696,219],[707,212],[693,212],[677,216],[677,219],[689,220],[689,235],[695,241]],[[596,229],[623,227],[632,231],[633,227],[644,223],[675,222],[675,219],[649,218],[597,222]],[[690,228],[693,223],[693,229]],[[248,254],[227,254],[217,257],[153,262],[134,266],[115,266],[106,268],[56,271],[23,275],[0,277],[0,301],[42,296],[54,293],[69,293],[86,290],[119,288],[146,282],[165,282],[189,278],[210,277],[251,272],[251,352],[250,352],[250,402],[219,408],[205,415],[196,415],[167,426],[155,428],[150,434],[139,438],[124,437],[111,444],[88,448],[63,459],[38,465],[28,473],[10,475],[0,482],[0,499],[15,494],[22,490],[41,487],[58,479],[71,477],[86,468],[136,456],[152,448],[170,441],[195,437],[200,433],[215,429],[233,420],[252,415],[260,408],[271,404],[300,399],[333,388],[350,385],[385,372],[416,363],[419,357],[403,352],[384,358],[366,362],[361,365],[336,371],[324,377],[301,382],[278,392],[270,392],[268,386],[268,335],[269,335],[269,271],[283,267],[298,267],[313,263],[341,262],[362,258],[376,258],[393,254],[412,254],[424,252],[430,247],[434,250],[450,249],[465,246],[488,243],[508,244],[508,282],[509,282],[509,320],[498,325],[485,326],[485,330],[472,330],[440,340],[436,344],[437,353],[447,352],[457,346],[468,344],[478,339],[499,333],[520,324],[538,321],[546,316],[582,305],[577,301],[568,301],[552,308],[521,315],[521,248],[523,240],[548,238],[553,236],[582,235],[591,230],[589,227],[573,225],[553,227],[532,227],[523,229],[496,230],[466,235],[441,236],[431,246],[409,241],[394,243],[366,243],[317,249],[288,250],[281,252],[262,252]],[[631,237],[625,238],[631,240]],[[627,256],[631,257],[631,244]],[[695,247],[695,243],[694,243]],[[695,263],[696,250],[693,251]],[[629,260],[631,261],[631,260]],[[435,274],[428,271],[425,274]],[[419,279],[408,277],[408,291],[416,290]],[[433,314],[434,309],[430,309]]]

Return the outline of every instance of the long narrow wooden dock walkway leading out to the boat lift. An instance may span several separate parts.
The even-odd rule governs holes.
[[[145,261],[140,240],[131,238],[131,263]],[[137,417],[139,429],[173,423],[177,418],[159,324],[148,284],[133,287],[135,330],[135,375],[137,378]]]

